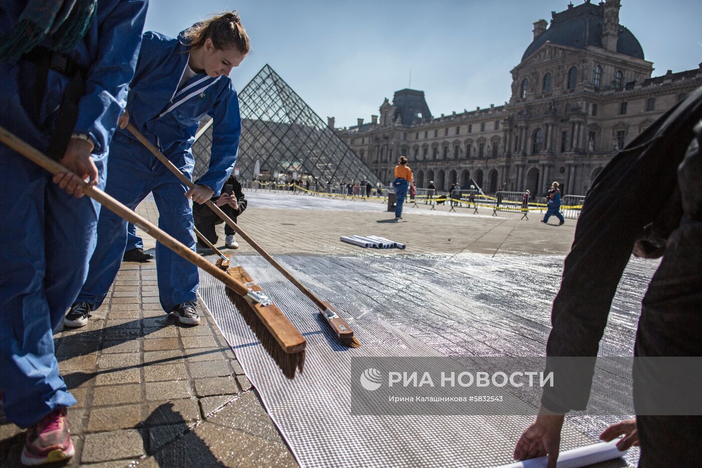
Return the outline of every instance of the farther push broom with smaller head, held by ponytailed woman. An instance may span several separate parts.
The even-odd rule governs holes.
[[[156,148],[150,141],[147,140],[145,136],[141,134],[140,131],[136,129],[133,124],[127,124],[127,130],[135,136],[138,141],[140,141],[150,152],[153,153],[154,156],[156,156],[161,162],[163,162],[168,169],[173,172],[173,175],[178,177],[178,180],[183,182],[187,188],[193,188],[195,186],[194,183],[190,181],[185,175],[183,175],[183,172],[180,171],[176,167],[175,164],[173,164],[170,160],[168,160],[167,157],[165,157],[159,150]],[[305,294],[305,296],[309,297],[314,304],[319,307],[320,313],[322,313],[322,316],[326,320],[326,323],[329,324],[329,327],[331,327],[331,330],[336,334],[336,337],[339,339],[339,342],[343,344],[344,346],[349,346],[350,348],[358,348],[361,346],[360,342],[356,337],[354,337],[353,330],[351,330],[351,327],[346,323],[346,320],[341,318],[339,316],[338,311],[336,308],[334,308],[330,302],[328,301],[322,301],[322,299],[319,299],[316,294],[314,294],[312,291],[308,290],[303,283],[301,283],[297,278],[295,278],[289,271],[285,269],[284,266],[278,263],[276,259],[274,259],[268,252],[266,252],[263,247],[258,245],[258,242],[253,240],[251,236],[246,234],[243,229],[239,228],[237,223],[234,223],[234,221],[223,212],[220,207],[218,207],[216,204],[212,202],[212,200],[207,200],[205,204],[212,209],[213,212],[217,214],[225,223],[227,223],[230,228],[234,229],[239,235],[241,235],[241,238],[244,238],[246,242],[253,247],[256,252],[261,254],[263,258],[265,258],[268,263],[270,263],[272,266],[277,269],[280,273],[284,275],[285,278],[287,278],[290,282],[295,285],[300,292]]]

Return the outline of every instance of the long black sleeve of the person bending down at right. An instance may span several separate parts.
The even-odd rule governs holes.
[[[597,356],[634,242],[679,190],[677,167],[701,117],[702,88],[651,124],[597,176],[585,197],[553,301],[547,356]],[[541,403],[554,411],[584,410],[594,365],[592,360],[583,371],[548,360],[547,372],[555,372],[556,384],[544,389]]]

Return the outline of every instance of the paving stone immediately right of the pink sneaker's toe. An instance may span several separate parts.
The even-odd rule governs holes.
[[[127,429],[88,434],[85,438],[81,462],[107,462],[141,455],[144,455],[141,434],[135,429]]]

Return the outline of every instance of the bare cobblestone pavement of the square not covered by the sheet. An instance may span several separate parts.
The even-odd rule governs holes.
[[[395,222],[383,207],[356,209],[360,201],[326,200],[324,209],[324,200],[305,195],[247,197],[240,225],[272,254],[564,254],[575,225],[543,225],[538,212],[519,221],[520,214],[472,216],[472,209],[428,214],[430,207],[411,204]],[[152,200],[138,212],[157,221]],[[139,233],[153,253],[154,240]],[[223,245],[223,226],[218,233]],[[378,251],[339,241],[352,234],[380,235],[408,247]],[[255,253],[239,243],[237,254]],[[204,304],[198,308],[201,325],[176,325],[159,305],[154,261],[125,263],[86,327],[55,331],[60,370],[78,400],[68,411],[77,452],[67,466],[296,465]],[[0,412],[0,467],[20,466],[22,436]]]

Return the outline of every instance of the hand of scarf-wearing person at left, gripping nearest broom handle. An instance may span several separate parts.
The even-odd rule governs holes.
[[[68,142],[66,152],[59,160],[69,172],[62,172],[53,176],[53,182],[57,183],[61,190],[65,190],[68,195],[80,198],[84,195],[81,181],[86,181],[89,188],[98,185],[98,167],[93,162],[91,152],[93,143],[81,138],[71,138]]]

